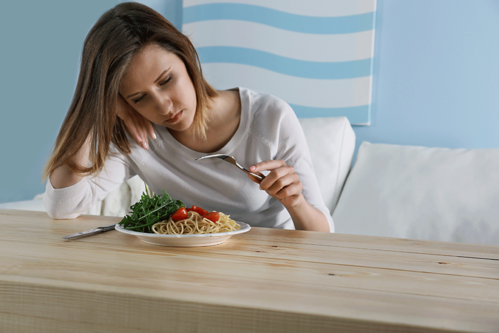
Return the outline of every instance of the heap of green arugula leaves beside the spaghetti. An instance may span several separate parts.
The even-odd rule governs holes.
[[[152,234],[151,227],[155,223],[168,219],[180,207],[185,207],[182,200],[173,200],[165,190],[159,196],[154,194],[151,197],[146,186],[146,193],[130,206],[130,215],[123,217],[119,224],[127,230]]]

